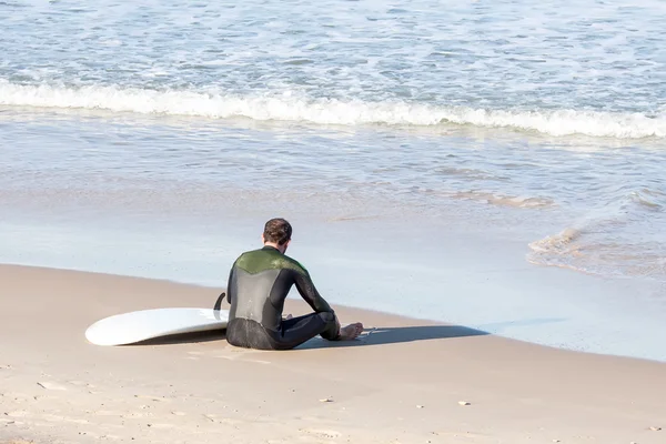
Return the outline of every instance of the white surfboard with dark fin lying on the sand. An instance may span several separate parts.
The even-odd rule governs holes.
[[[180,333],[226,329],[228,310],[152,309],[104,317],[85,330],[97,345],[125,345]]]

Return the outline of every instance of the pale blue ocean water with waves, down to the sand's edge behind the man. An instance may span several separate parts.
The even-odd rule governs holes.
[[[0,1],[0,261],[666,361],[666,4]],[[214,296],[212,296],[214,300]]]

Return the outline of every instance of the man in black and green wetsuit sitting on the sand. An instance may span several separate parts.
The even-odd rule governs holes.
[[[363,324],[340,326],[335,312],[319,294],[307,270],[284,254],[292,226],[284,219],[271,219],[264,226],[260,250],[236,259],[229,273],[226,300],[231,304],[226,341],[235,346],[259,350],[289,350],[320,334],[329,341],[350,341],[363,332]],[[314,313],[283,319],[284,300],[295,284]]]

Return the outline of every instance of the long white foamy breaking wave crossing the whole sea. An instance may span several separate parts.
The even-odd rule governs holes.
[[[40,108],[102,109],[121,112],[193,115],[213,119],[304,121],[317,124],[461,124],[538,131],[551,135],[666,138],[666,113],[587,110],[486,110],[400,101],[310,99],[289,92],[231,95],[199,91],[157,91],[118,87],[59,88],[0,82],[0,104]]]

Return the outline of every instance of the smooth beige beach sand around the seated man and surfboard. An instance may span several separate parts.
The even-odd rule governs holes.
[[[666,443],[663,363],[346,307],[367,327],[346,344],[101,347],[83,336],[101,317],[219,290],[12,265],[0,282],[0,443]]]

